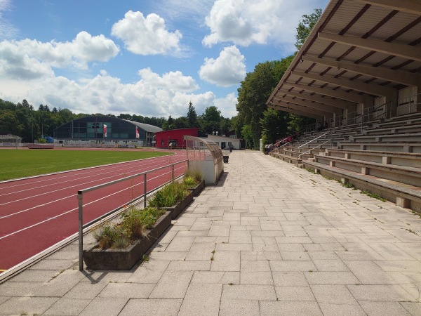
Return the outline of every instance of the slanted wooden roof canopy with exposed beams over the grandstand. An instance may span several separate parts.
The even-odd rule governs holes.
[[[331,126],[419,112],[420,44],[420,0],[331,0],[267,105]]]

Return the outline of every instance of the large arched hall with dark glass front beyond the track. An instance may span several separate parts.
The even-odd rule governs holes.
[[[154,133],[158,131],[162,129],[136,121],[98,115],[62,124],[54,130],[54,138],[67,142],[89,140],[94,143],[135,143],[147,146],[152,145]]]

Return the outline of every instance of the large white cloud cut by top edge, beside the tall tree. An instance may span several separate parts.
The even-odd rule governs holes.
[[[295,27],[323,1],[216,0],[205,22],[210,34],[203,45],[232,42],[240,46],[274,41],[293,51]]]

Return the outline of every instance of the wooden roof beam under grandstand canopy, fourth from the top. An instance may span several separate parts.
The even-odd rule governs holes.
[[[323,81],[327,84],[335,84],[353,90],[374,94],[375,96],[390,96],[396,93],[395,88],[387,88],[385,86],[378,86],[377,84],[366,84],[364,82],[352,81],[349,79],[339,79],[335,77],[321,76],[319,74],[310,74],[306,72],[291,72],[295,76],[304,77],[312,80]]]

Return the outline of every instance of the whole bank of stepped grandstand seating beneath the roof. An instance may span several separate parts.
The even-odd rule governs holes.
[[[421,213],[421,112],[315,131],[270,154]]]

